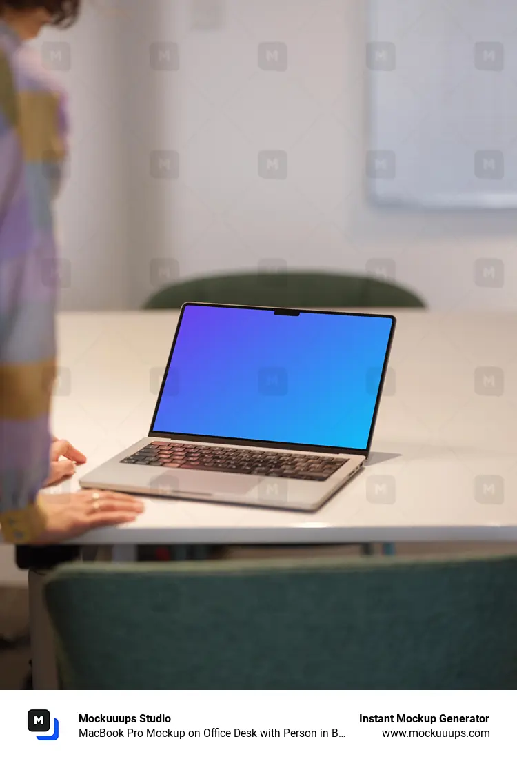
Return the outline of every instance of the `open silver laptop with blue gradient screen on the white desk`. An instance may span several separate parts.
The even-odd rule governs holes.
[[[148,436],[81,486],[315,512],[368,458],[395,323],[184,304]]]

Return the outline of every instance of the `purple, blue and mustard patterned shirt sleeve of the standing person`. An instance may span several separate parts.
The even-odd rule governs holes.
[[[11,543],[42,530],[55,378],[52,198],[67,150],[66,99],[0,22],[0,527]]]

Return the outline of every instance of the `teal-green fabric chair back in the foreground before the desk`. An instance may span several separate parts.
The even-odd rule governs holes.
[[[517,557],[61,565],[64,688],[514,689]]]

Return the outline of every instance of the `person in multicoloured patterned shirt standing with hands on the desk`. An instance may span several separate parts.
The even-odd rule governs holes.
[[[141,501],[121,493],[40,492],[86,458],[49,431],[57,306],[52,204],[67,157],[67,96],[27,42],[47,24],[70,26],[79,12],[80,0],[0,0],[0,530],[19,546],[70,540],[143,511]]]

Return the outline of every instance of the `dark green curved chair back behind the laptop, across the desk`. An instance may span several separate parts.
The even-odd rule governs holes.
[[[148,309],[187,301],[299,308],[422,308],[424,301],[393,282],[339,272],[241,272],[177,282],[156,293]]]

